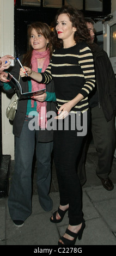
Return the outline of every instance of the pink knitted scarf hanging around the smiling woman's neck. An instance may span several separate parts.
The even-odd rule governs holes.
[[[42,71],[44,72],[48,66],[48,64],[50,63],[50,50],[47,49],[45,52],[38,52],[36,50],[33,50],[32,52],[32,58],[31,58],[31,64],[32,64],[32,70],[34,70],[35,72],[38,72],[38,61],[37,59],[42,59],[45,58],[44,60],[44,64],[42,66]],[[40,90],[40,89],[44,89],[46,87],[45,84],[36,82],[35,80],[31,80],[32,81],[32,92],[36,91],[36,90]],[[34,107],[34,100],[32,99],[31,101],[32,103],[32,108]],[[46,125],[47,125],[47,117],[46,117],[46,106],[47,106],[47,102],[40,102],[40,101],[36,101],[37,107],[36,107],[36,111],[39,112],[39,118],[38,118],[38,124],[41,127],[41,129],[45,129]]]

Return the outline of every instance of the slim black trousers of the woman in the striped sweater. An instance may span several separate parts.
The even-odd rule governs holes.
[[[65,119],[64,119],[65,120]],[[88,121],[90,123],[90,113]],[[70,121],[69,121],[69,124]],[[69,125],[70,126],[70,125]],[[69,204],[69,224],[82,223],[82,190],[76,172],[76,162],[84,145],[85,136],[78,136],[77,129],[54,131],[54,163],[60,193],[60,204]]]

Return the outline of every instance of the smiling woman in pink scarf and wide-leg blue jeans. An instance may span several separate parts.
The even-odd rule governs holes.
[[[29,50],[19,59],[22,65],[32,67],[36,72],[44,71],[50,63],[49,47],[50,27],[46,23],[34,22],[28,28]],[[20,65],[16,62],[11,74],[18,80]],[[17,227],[22,227],[26,218],[32,213],[32,163],[36,149],[36,184],[39,202],[45,211],[52,210],[52,199],[49,196],[51,184],[51,153],[53,150],[53,131],[47,131],[47,118],[42,112],[55,111],[53,102],[53,83],[41,84],[26,76],[20,78],[23,92],[33,92],[46,87],[39,101],[33,98],[20,99],[15,114],[13,133],[15,135],[15,170],[8,198],[11,219]],[[48,88],[47,88],[48,87]],[[13,92],[9,84],[4,83],[4,90]],[[46,98],[48,102],[46,102]],[[56,99],[56,98],[55,98]],[[38,127],[29,129],[29,123],[36,118]],[[33,126],[33,125],[32,125]],[[36,145],[36,147],[35,147]]]

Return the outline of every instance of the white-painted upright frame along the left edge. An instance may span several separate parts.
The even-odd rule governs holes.
[[[14,0],[0,0],[0,52],[14,56]],[[14,62],[12,62],[14,65]],[[14,160],[13,125],[6,117],[10,99],[2,93],[2,154],[11,155]]]

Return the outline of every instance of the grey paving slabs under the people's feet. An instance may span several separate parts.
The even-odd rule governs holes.
[[[112,173],[109,175],[114,183],[114,190],[107,191],[101,185],[100,179],[95,174],[97,154],[91,144],[87,154],[86,171],[87,182],[82,187],[83,213],[86,220],[82,240],[76,241],[75,246],[83,245],[116,245],[116,159],[113,160]],[[11,161],[11,176],[14,161]],[[59,205],[59,191],[56,170],[52,167],[52,184],[50,196],[53,200],[53,210]],[[32,215],[30,215],[22,228],[15,227],[10,218],[7,197],[0,198],[0,245],[32,245],[53,246],[58,245],[59,237],[68,227],[68,215],[62,222],[50,222],[52,212],[45,212],[38,201],[36,190],[36,167],[33,178]]]

